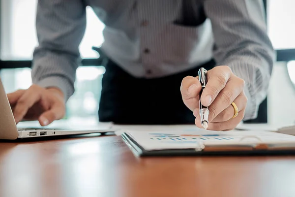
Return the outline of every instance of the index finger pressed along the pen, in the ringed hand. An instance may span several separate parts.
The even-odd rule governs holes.
[[[231,76],[231,72],[227,69],[213,69],[207,72],[208,81],[201,96],[201,102],[204,106],[209,106],[213,102]]]

